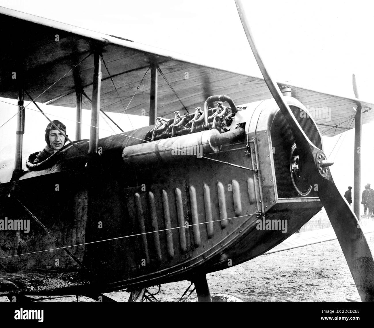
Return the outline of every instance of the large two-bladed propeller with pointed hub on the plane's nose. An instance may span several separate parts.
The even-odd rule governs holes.
[[[326,165],[330,163],[327,161],[324,152],[310,142],[292,114],[288,104],[284,101],[278,84],[275,83],[267,72],[255,46],[249,24],[242,9],[242,3],[240,0],[235,0],[235,3],[249,45],[251,46],[264,80],[279,109],[291,127],[300,154],[299,157],[303,160],[303,174],[311,185],[318,185],[319,199],[325,207],[332,228],[338,238],[361,300],[374,301],[373,255],[371,254],[365,235],[362,232],[360,223],[347,201],[336,188],[328,165]],[[355,84],[354,77],[353,81]],[[355,95],[356,92],[357,89],[355,90]]]

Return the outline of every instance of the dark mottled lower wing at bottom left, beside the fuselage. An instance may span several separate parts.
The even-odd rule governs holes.
[[[77,294],[89,285],[79,272],[40,270],[0,275],[0,296]]]

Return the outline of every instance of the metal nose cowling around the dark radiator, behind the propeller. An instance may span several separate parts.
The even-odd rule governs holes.
[[[307,109],[295,98],[284,98],[309,139],[322,149],[321,134]],[[241,106],[245,110],[236,114],[231,129],[245,123],[247,142],[257,144],[265,211],[278,202],[292,199],[304,198],[319,202],[314,188],[304,194],[299,193],[292,181],[292,147],[295,141],[275,100],[267,99]]]

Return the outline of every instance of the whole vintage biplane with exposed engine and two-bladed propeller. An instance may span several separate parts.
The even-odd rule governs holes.
[[[374,300],[370,248],[322,146],[322,135],[348,129],[340,123],[352,107],[374,105],[275,83],[236,3],[263,79],[0,8],[0,96],[18,98],[0,218],[30,220],[28,232],[0,231],[1,296],[98,299],[129,288],[138,299],[145,287],[189,280],[211,301],[207,273],[265,253],[325,207],[362,301]],[[26,165],[24,99],[77,111],[75,138]],[[87,107],[90,139],[81,139]],[[332,109],[328,123],[307,109],[319,107]],[[145,112],[150,125],[99,139],[101,111]]]

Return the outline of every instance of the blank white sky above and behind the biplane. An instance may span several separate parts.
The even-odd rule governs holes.
[[[374,3],[242,2],[259,52],[275,80],[353,98],[352,73],[355,73],[360,98],[374,103]],[[0,0],[0,6],[172,50],[189,56],[190,61],[261,76],[233,0],[65,0],[56,3]],[[15,103],[14,100],[0,100]],[[74,136],[74,110],[62,111],[54,107],[43,109],[57,115],[51,117],[52,120],[63,117],[68,133]],[[0,125],[15,111],[16,106],[0,103]],[[25,151],[34,152],[43,147],[44,136],[39,131],[43,131],[48,122],[38,115],[31,109],[26,113]],[[119,120],[117,115],[110,113],[114,120]],[[126,120],[122,118],[121,122],[128,124]],[[85,114],[83,121],[89,123],[89,114]],[[147,118],[132,118],[132,123],[142,126]],[[15,124],[13,118],[0,128],[0,164],[5,157],[14,157],[11,148],[14,147]],[[100,137],[114,133],[105,122],[101,121],[100,127],[104,129]],[[370,123],[362,129],[361,189],[368,182],[374,185],[373,128],[374,124]],[[83,130],[83,137],[88,137],[88,127]],[[353,130],[333,138],[324,137],[327,155],[336,145],[331,155],[335,160],[331,171],[342,193],[348,185],[353,186],[353,138]]]

